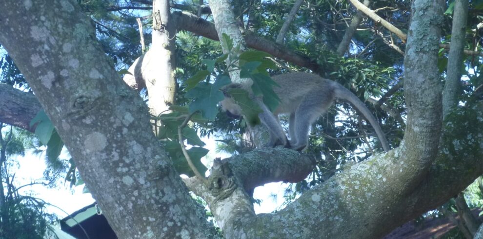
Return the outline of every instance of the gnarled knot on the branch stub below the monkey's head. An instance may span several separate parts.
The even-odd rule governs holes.
[[[208,189],[215,197],[213,202],[228,198],[238,187],[228,161],[221,162],[220,158],[213,161],[207,183]]]

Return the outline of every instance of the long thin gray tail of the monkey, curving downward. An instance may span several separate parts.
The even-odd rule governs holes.
[[[371,111],[365,106],[365,104],[359,100],[359,98],[354,95],[350,90],[346,89],[343,87],[341,84],[336,83],[335,84],[335,93],[336,93],[336,98],[342,99],[342,100],[347,100],[349,101],[352,105],[356,107],[359,112],[362,113],[362,115],[371,123],[372,127],[376,131],[376,134],[381,141],[382,148],[384,151],[389,151],[389,144],[387,143],[387,139],[384,135],[384,132],[382,131],[381,126],[379,125],[379,122],[377,119],[372,115]]]

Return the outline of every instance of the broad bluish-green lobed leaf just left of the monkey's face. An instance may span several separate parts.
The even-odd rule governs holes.
[[[228,77],[220,75],[214,84],[198,83],[195,88],[186,93],[187,98],[194,99],[189,105],[190,112],[200,111],[204,118],[214,120],[218,114],[216,105],[224,99],[220,88],[230,82]]]

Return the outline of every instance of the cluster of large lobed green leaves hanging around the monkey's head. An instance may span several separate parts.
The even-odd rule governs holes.
[[[225,36],[225,40],[230,52],[221,55],[215,60],[201,60],[207,69],[196,72],[191,78],[184,81],[182,94],[185,98],[191,99],[188,102],[189,112],[186,112],[186,108],[184,107],[172,106],[170,109],[174,110],[173,112],[162,114],[159,118],[155,118],[159,120],[160,124],[158,138],[162,139],[166,151],[180,174],[186,174],[188,176],[194,175],[179,145],[178,128],[186,117],[189,117],[188,113],[194,114],[190,120],[196,123],[199,128],[210,128],[206,124],[206,119],[211,121],[216,119],[219,112],[217,104],[224,99],[224,94],[228,94],[241,106],[245,120],[252,125],[260,123],[258,114],[262,111],[250,99],[248,96],[249,93],[246,90],[236,88],[223,92],[223,86],[231,83],[228,74],[224,72],[240,69],[242,78],[250,78],[253,80],[252,91],[255,96],[262,97],[263,101],[266,101],[272,108],[278,104],[279,99],[271,87],[276,84],[271,80],[266,70],[267,68],[275,68],[274,63],[266,59],[269,55],[258,51],[246,51],[238,58],[231,58],[231,62],[224,65],[222,62],[228,58],[232,50],[235,50],[233,49],[232,41],[227,36]],[[217,68],[218,75],[212,81],[213,74],[215,74],[215,66],[223,68]],[[182,138],[187,139],[188,144],[195,146],[187,150],[188,155],[198,171],[204,174],[207,169],[201,163],[201,158],[208,153],[208,150],[201,148],[204,144],[193,128],[183,128]]]

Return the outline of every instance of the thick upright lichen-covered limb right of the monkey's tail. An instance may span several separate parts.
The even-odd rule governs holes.
[[[413,175],[401,177],[407,190],[420,184],[435,159],[442,124],[442,85],[438,72],[438,42],[441,37],[444,1],[427,6],[415,0],[411,6],[411,24],[404,58],[404,96],[407,124],[401,160],[411,162]],[[428,21],[427,15],[434,16]],[[424,63],[421,62],[424,59]],[[409,175],[407,175],[409,176]]]

